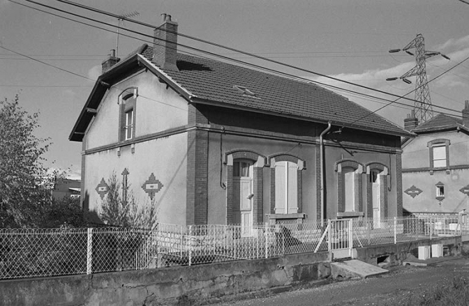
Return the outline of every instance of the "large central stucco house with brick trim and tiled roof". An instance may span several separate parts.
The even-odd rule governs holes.
[[[70,133],[82,141],[83,206],[110,192],[158,222],[251,224],[402,214],[401,137],[412,133],[312,82],[154,45],[114,54]]]

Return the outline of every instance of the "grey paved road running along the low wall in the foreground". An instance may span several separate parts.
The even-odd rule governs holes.
[[[451,257],[435,266],[394,267],[389,273],[365,280],[333,282],[311,289],[279,293],[268,298],[241,300],[217,306],[338,306],[403,305],[415,294],[425,294],[435,286],[447,284],[454,277],[469,277],[469,258]],[[468,301],[469,305],[469,301]]]

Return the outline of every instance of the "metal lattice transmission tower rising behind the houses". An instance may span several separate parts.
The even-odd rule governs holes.
[[[409,51],[409,49],[415,48],[415,54]],[[404,51],[407,54],[412,56],[415,55],[416,65],[414,68],[410,69],[408,72],[405,72],[401,77],[389,77],[387,81],[394,81],[395,79],[402,79],[403,82],[411,84],[408,77],[416,76],[417,80],[415,82],[415,102],[414,110],[415,117],[419,120],[419,123],[425,122],[433,117],[433,108],[431,106],[430,98],[430,89],[429,84],[426,79],[426,59],[435,55],[441,55],[445,59],[449,59],[448,56],[440,52],[434,51],[425,51],[425,42],[424,36],[422,34],[417,34],[417,37],[414,38],[408,45],[402,49],[392,49],[389,50],[391,53]]]

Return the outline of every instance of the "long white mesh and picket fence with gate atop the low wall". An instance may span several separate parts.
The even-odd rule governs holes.
[[[333,225],[332,225],[333,224]],[[0,229],[0,279],[139,270],[382,245],[438,236],[469,238],[466,218],[358,218],[302,224],[155,229]]]

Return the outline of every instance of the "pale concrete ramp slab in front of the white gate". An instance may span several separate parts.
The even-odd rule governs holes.
[[[331,263],[331,274],[336,280],[366,278],[387,272],[389,271],[357,259]]]

